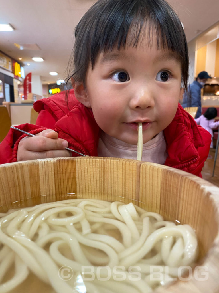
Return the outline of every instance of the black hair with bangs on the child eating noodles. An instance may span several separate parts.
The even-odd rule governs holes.
[[[145,30],[147,29],[147,33]],[[187,89],[189,57],[185,33],[178,16],[164,0],[98,0],[77,24],[73,58],[69,62],[74,81],[83,82],[88,66],[92,69],[100,53],[126,46],[136,47],[153,30],[157,48],[175,53],[181,65],[181,84]]]

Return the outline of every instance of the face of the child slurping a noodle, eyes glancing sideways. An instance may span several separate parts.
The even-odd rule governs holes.
[[[146,143],[170,124],[177,110],[180,62],[171,51],[157,50],[155,41],[151,48],[100,54],[86,75],[86,98],[97,124],[129,144],[138,142],[138,122]]]

